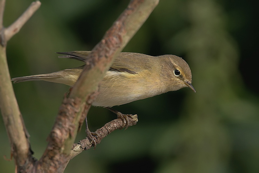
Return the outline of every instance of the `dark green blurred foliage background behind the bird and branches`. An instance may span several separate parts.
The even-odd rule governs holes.
[[[7,0],[9,26],[31,3]],[[55,52],[91,50],[126,8],[119,0],[46,0],[7,46],[11,77],[82,65]],[[114,107],[138,114],[138,124],[108,135],[65,172],[259,172],[258,9],[245,0],[161,0],[124,52],[174,54],[189,63],[188,88]],[[257,22],[256,22],[257,21]],[[35,157],[69,86],[44,81],[13,85]],[[116,116],[101,107],[88,114],[95,131]],[[83,127],[84,129],[84,127]],[[82,130],[76,142],[85,138]],[[0,119],[0,168],[14,171]]]

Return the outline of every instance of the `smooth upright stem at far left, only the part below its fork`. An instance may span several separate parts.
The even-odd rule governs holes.
[[[0,46],[0,107],[16,164],[25,163],[29,152],[29,141],[23,128],[23,120],[14,95],[8,70],[5,47]]]

